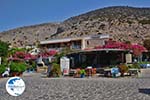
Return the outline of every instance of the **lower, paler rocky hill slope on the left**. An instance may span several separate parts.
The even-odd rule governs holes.
[[[35,45],[36,42],[46,40],[57,32],[59,24],[46,23],[25,26],[0,33],[0,40],[9,42],[12,46]]]

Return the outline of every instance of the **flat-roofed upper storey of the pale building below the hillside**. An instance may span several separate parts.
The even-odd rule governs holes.
[[[62,49],[69,47],[70,49],[84,50],[87,48],[104,45],[105,41],[109,38],[109,35],[103,34],[76,38],[51,39],[40,41],[40,46],[47,47],[48,49]]]

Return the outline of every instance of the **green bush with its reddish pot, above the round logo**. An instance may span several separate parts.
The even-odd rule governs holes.
[[[11,62],[10,71],[12,76],[20,76],[26,70],[26,65],[23,62]]]

